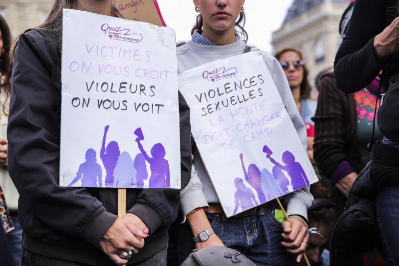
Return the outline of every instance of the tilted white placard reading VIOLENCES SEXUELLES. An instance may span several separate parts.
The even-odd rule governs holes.
[[[185,71],[179,90],[227,217],[318,181],[259,50]]]

